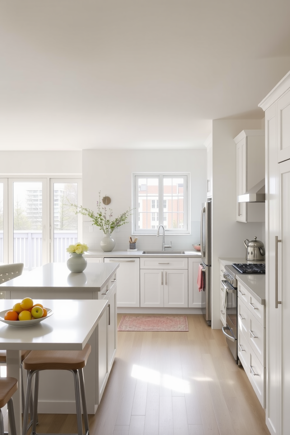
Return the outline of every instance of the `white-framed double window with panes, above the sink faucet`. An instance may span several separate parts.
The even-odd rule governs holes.
[[[188,186],[189,174],[133,174],[133,234],[155,234],[164,222],[168,233],[189,234]]]

